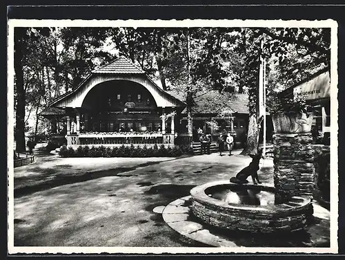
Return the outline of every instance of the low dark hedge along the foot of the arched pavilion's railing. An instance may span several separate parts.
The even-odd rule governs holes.
[[[79,146],[77,149],[63,145],[59,151],[61,157],[177,157],[182,154],[193,154],[193,148],[189,145],[175,145],[165,147],[154,145],[153,147],[135,147],[134,145],[121,147],[94,147]]]

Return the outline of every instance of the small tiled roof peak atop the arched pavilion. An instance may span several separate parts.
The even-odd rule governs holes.
[[[121,56],[109,64],[95,68],[92,73],[144,74],[145,72],[130,59]]]

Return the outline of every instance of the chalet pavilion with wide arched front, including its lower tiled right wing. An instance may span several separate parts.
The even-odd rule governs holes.
[[[184,92],[164,91],[125,57],[96,68],[74,90],[54,100],[41,115],[66,120],[68,146],[175,145],[197,142],[196,129],[217,140],[231,131],[237,143],[246,139],[248,95],[199,93],[193,106],[193,136],[188,134]],[[230,125],[218,114],[228,107]],[[217,122],[217,128],[209,122]]]

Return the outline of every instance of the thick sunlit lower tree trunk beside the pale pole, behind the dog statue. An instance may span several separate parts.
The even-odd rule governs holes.
[[[259,127],[257,125],[257,116],[250,115],[247,133],[246,147],[242,151],[242,155],[257,154],[259,147]]]

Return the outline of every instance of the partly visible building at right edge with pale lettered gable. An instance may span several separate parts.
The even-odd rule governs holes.
[[[326,67],[306,79],[279,93],[282,97],[303,95],[307,104],[313,107],[313,125],[322,136],[331,132],[331,76]]]

